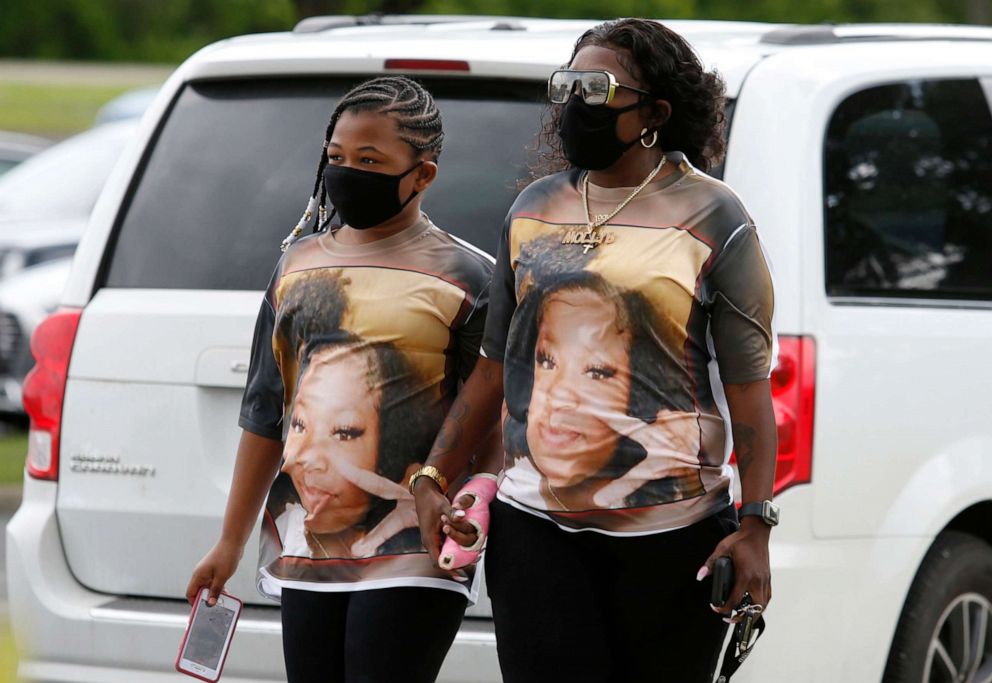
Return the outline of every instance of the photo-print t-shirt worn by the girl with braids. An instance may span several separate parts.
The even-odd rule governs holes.
[[[474,599],[471,571],[431,565],[406,482],[475,364],[491,276],[492,259],[426,217],[360,246],[312,235],[280,260],[239,420],[285,444],[264,594],[431,586]]]

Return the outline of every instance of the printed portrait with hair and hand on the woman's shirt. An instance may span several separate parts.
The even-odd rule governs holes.
[[[513,343],[533,364],[508,370],[507,408],[520,418],[506,425],[508,456],[534,465],[551,510],[700,496],[698,461],[675,461],[611,497],[610,484],[645,459],[698,452],[701,434],[677,368],[653,352],[653,307],[589,269],[598,253],[563,247],[557,233],[521,246],[518,313],[535,324],[521,326]]]

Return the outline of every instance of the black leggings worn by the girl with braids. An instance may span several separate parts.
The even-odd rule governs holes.
[[[324,593],[283,588],[289,683],[431,683],[466,600],[437,588]]]

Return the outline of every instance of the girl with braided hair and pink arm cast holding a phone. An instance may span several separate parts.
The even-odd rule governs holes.
[[[432,562],[408,488],[475,366],[492,274],[420,210],[443,140],[415,81],[349,91],[259,311],[223,531],[187,596],[222,590],[264,502],[258,586],[290,683],[433,681],[476,596],[473,567]]]

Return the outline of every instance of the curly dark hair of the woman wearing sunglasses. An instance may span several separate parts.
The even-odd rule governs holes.
[[[685,38],[649,19],[607,21],[582,34],[569,63],[590,45],[615,49],[640,85],[672,106],[671,118],[658,131],[661,149],[683,152],[703,171],[719,165],[726,149],[726,86],[719,74],[703,67]],[[570,167],[558,137],[561,109],[550,104],[544,113],[535,176]]]

